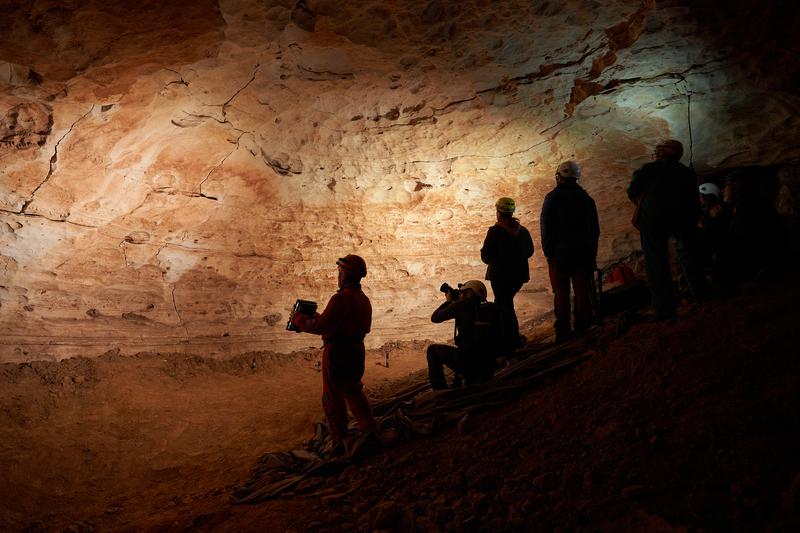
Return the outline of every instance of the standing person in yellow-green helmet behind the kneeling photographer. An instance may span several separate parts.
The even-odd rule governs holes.
[[[506,330],[512,339],[511,348],[519,348],[526,339],[519,334],[519,321],[514,309],[514,296],[530,281],[528,258],[533,255],[533,239],[528,230],[514,218],[516,203],[503,197],[497,200],[497,222],[486,232],[481,260],[486,263],[486,279],[492,286],[494,302],[500,306]]]

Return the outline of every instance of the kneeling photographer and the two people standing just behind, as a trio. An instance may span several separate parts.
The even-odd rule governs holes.
[[[600,224],[594,200],[578,185],[580,176],[578,163],[561,163],[556,169],[556,186],[542,204],[541,243],[554,294],[556,342],[583,335],[593,321],[592,279]],[[467,384],[488,381],[496,358],[525,343],[519,333],[514,296],[530,280],[528,259],[533,255],[533,239],[513,216],[516,204],[512,198],[500,198],[495,207],[497,222],[489,228],[481,248],[495,301],[486,301],[486,286],[479,280],[467,281],[459,291],[446,291],[445,302],[431,320],[455,320],[455,347],[428,347],[428,375],[434,389],[447,388],[445,366],[453,371],[455,386],[462,379]],[[574,323],[570,286],[575,295]]]

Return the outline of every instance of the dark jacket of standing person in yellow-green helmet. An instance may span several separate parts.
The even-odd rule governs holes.
[[[486,279],[525,283],[531,279],[528,258],[533,255],[531,234],[515,218],[507,224],[498,222],[486,232],[481,260],[489,265]]]

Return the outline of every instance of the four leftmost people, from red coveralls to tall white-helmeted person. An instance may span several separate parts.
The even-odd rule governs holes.
[[[600,230],[595,203],[577,184],[579,178],[577,163],[561,164],[556,171],[556,187],[545,198],[542,209],[542,247],[555,292],[559,341],[571,334],[570,282],[576,294],[575,332],[584,333],[591,323],[589,287]],[[433,312],[431,321],[455,321],[455,346],[428,347],[428,375],[434,389],[448,386],[445,366],[453,370],[456,386],[461,380],[467,385],[489,381],[496,369],[496,358],[513,352],[526,341],[519,332],[514,297],[530,280],[528,259],[534,253],[533,238],[514,217],[516,204],[512,198],[500,198],[495,208],[496,223],[487,231],[480,251],[495,301],[487,301],[486,285],[480,280],[469,280],[457,289],[443,286],[445,301]],[[322,406],[332,456],[345,453],[348,408],[362,432],[383,440],[361,381],[364,337],[372,323],[372,307],[361,290],[367,265],[354,254],[340,258],[336,265],[339,290],[325,310],[313,316],[297,312],[290,316],[298,331],[321,335],[323,339]]]

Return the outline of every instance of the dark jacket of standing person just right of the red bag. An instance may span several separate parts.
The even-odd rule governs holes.
[[[660,233],[691,231],[700,217],[697,178],[672,159],[647,163],[634,172],[628,198],[641,201],[636,222]]]

